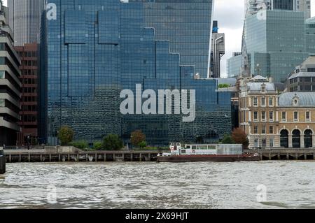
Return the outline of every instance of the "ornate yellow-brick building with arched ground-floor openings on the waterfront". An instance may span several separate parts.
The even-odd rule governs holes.
[[[314,148],[315,93],[280,94],[267,78],[244,78],[239,125],[250,148]]]

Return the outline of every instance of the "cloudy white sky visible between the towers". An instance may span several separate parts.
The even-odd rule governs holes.
[[[7,1],[4,0],[5,5]],[[218,20],[219,32],[225,33],[226,53],[221,64],[223,78],[226,75],[226,60],[232,57],[232,52],[241,50],[244,5],[244,0],[215,0],[214,20]],[[315,16],[315,0],[311,0],[311,15]]]

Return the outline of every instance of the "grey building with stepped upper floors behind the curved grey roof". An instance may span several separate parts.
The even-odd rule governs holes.
[[[307,58],[288,78],[288,91],[315,92],[315,56]]]

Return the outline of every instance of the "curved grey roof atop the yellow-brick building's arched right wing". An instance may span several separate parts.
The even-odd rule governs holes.
[[[299,98],[299,106],[315,106],[315,92],[286,92],[279,95],[279,106],[292,106],[293,98]]]

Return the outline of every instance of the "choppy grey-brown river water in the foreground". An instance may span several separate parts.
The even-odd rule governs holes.
[[[315,208],[315,162],[7,164],[0,208]]]

